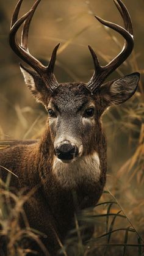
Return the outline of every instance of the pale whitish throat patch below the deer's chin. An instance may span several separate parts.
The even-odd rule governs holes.
[[[74,188],[81,183],[96,182],[100,177],[100,163],[98,153],[82,156],[72,163],[62,163],[54,157],[52,173],[63,188]]]

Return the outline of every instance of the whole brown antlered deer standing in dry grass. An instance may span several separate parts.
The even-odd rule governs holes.
[[[73,227],[74,213],[95,207],[106,183],[107,142],[102,115],[110,106],[124,103],[134,95],[139,84],[138,72],[105,82],[106,78],[129,57],[134,48],[131,16],[121,0],[114,3],[123,19],[124,27],[99,16],[104,26],[124,38],[121,52],[107,65],[101,66],[98,57],[88,45],[94,64],[94,73],[88,82],[57,82],[54,76],[59,44],[52,51],[48,66],[29,53],[28,34],[32,17],[40,0],[18,18],[23,0],[16,4],[10,26],[9,43],[14,53],[30,68],[20,64],[26,86],[35,100],[48,112],[45,132],[39,141],[14,141],[11,147],[0,151],[1,177],[10,169],[10,185],[31,191],[38,186],[24,204],[30,227],[46,234],[41,241],[48,254],[57,255]],[[23,24],[21,42],[16,34]],[[73,193],[76,195],[74,202]],[[31,243],[31,248],[35,244]],[[32,254],[31,254],[32,255]]]

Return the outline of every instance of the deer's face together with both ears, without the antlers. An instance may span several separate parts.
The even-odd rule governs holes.
[[[139,74],[133,73],[102,85],[96,93],[91,93],[82,82],[59,84],[50,93],[37,73],[22,66],[21,71],[36,100],[48,111],[54,153],[63,163],[93,153],[101,136],[101,115],[111,104],[128,100],[139,81]]]

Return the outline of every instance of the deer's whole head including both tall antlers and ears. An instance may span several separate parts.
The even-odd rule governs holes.
[[[27,46],[29,25],[40,2],[37,0],[31,10],[18,19],[23,0],[16,5],[10,28],[10,46],[13,51],[26,62],[32,70],[20,65],[25,82],[37,101],[48,110],[48,126],[54,152],[64,163],[88,155],[96,150],[101,131],[100,117],[104,110],[113,104],[121,104],[132,97],[139,82],[139,73],[104,83],[107,76],[116,70],[128,58],[134,46],[131,17],[121,0],[114,0],[123,21],[124,28],[105,21],[98,16],[96,19],[117,31],[124,38],[124,46],[120,54],[102,67],[93,49],[92,54],[95,71],[87,83],[57,82],[54,76],[54,64],[59,44],[52,51],[48,67],[29,53]],[[16,32],[23,24],[21,43],[16,40]]]

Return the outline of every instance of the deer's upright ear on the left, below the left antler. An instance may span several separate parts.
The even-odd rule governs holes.
[[[20,64],[20,70],[24,76],[24,81],[26,82],[29,90],[31,90],[35,100],[43,103],[44,106],[46,106],[48,103],[49,90],[38,73],[24,67],[22,64]]]

